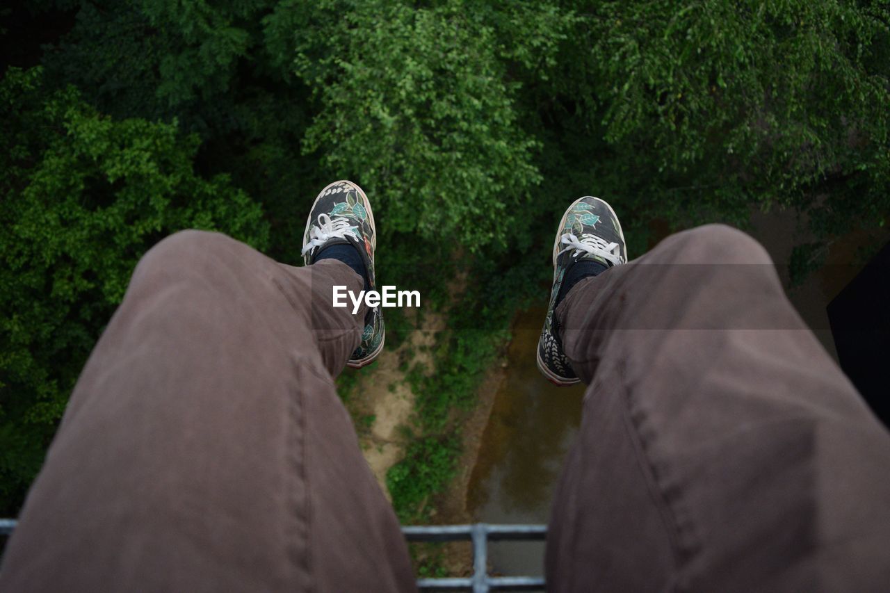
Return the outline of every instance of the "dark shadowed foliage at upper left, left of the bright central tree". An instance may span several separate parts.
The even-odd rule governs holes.
[[[261,201],[270,255],[298,261],[304,219],[295,212],[327,181],[315,158],[299,158],[309,93],[263,47],[261,21],[274,3],[81,4],[74,27],[45,53],[47,82],[77,85],[113,118],[175,119],[199,134],[199,170],[230,175]]]

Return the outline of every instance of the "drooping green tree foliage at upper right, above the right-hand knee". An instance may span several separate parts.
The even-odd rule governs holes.
[[[573,109],[557,117],[593,149],[588,187],[618,196],[632,226],[744,225],[778,205],[824,239],[886,217],[886,3],[583,4],[554,74]]]

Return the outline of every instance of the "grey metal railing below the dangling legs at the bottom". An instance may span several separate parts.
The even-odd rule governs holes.
[[[0,535],[10,535],[15,529],[14,519],[0,519]],[[473,576],[449,579],[418,579],[417,588],[426,591],[473,591],[486,593],[490,590],[540,591],[544,590],[543,577],[489,576],[489,541],[543,541],[546,525],[407,525],[401,528],[408,541],[461,541],[473,542]]]

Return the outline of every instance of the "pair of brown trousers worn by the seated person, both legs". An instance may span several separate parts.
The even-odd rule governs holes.
[[[182,232],[137,266],[71,396],[3,591],[413,589],[332,377],[344,264]],[[557,310],[589,385],[554,497],[553,590],[878,591],[890,437],[763,248],[679,233]]]

